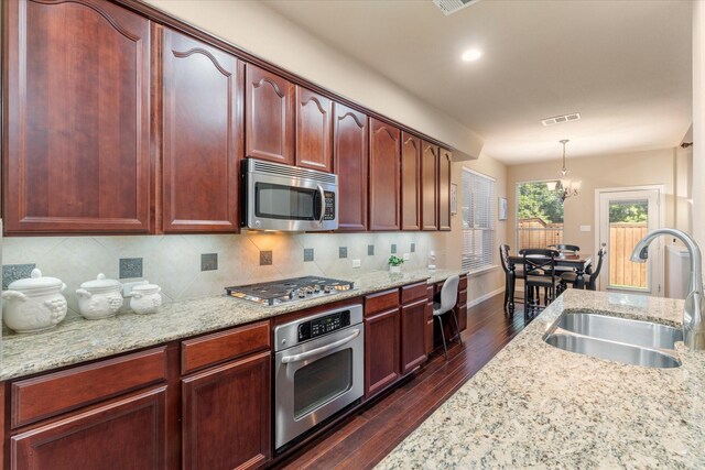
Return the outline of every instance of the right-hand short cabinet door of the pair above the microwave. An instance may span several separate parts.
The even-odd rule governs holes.
[[[296,166],[333,172],[333,101],[296,86]]]

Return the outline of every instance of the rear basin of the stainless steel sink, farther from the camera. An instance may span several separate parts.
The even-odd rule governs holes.
[[[675,341],[683,341],[683,330],[677,328],[597,314],[563,315],[557,327],[578,335],[646,348],[675,349]]]

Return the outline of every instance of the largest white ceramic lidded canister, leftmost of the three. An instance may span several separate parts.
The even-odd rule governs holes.
[[[14,281],[2,293],[3,319],[17,332],[34,332],[54,328],[66,317],[66,288],[56,277],[42,277],[32,270],[32,277]]]

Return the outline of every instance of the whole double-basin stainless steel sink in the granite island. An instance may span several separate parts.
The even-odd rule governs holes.
[[[647,368],[677,368],[675,342],[683,331],[651,321],[567,311],[549,329],[544,341],[565,351]]]

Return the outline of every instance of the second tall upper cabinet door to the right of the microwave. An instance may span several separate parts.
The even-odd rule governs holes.
[[[370,118],[370,230],[399,230],[400,131]]]

